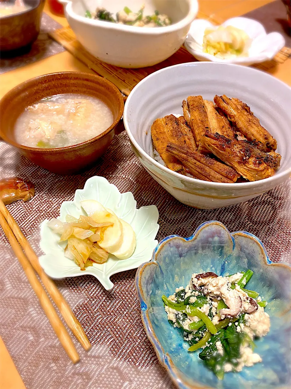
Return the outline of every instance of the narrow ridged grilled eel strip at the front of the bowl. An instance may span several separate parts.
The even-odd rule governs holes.
[[[240,177],[233,168],[198,151],[189,151],[174,143],[167,145],[167,151],[182,162],[185,172],[189,171],[200,180],[232,183]]]

